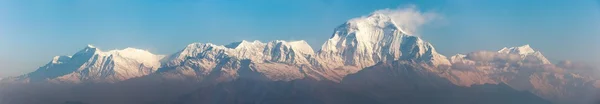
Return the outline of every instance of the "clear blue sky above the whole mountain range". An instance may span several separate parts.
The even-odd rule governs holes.
[[[599,0],[0,0],[0,77],[93,44],[172,54],[193,42],[306,40],[346,20],[414,5],[417,34],[446,55],[530,44],[551,61],[600,63]]]

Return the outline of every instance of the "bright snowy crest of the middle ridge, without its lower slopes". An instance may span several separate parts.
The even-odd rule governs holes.
[[[254,62],[284,62],[294,64],[309,64],[308,55],[314,54],[312,48],[305,41],[275,40],[268,43],[256,41],[240,41],[228,45],[214,45],[211,43],[193,43],[182,51],[174,54],[168,61],[168,66],[180,64],[186,58],[219,58],[234,57],[249,59]]]

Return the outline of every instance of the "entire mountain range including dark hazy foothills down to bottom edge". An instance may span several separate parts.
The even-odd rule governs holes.
[[[283,40],[192,43],[171,55],[88,45],[2,79],[0,103],[596,102],[593,67],[552,64],[529,45],[446,57],[394,20],[351,19],[318,51]]]

